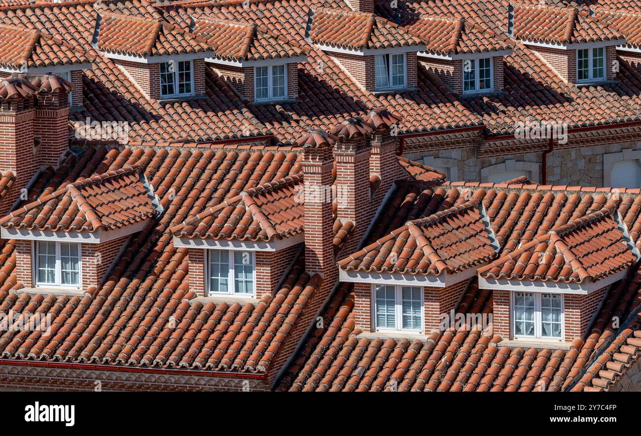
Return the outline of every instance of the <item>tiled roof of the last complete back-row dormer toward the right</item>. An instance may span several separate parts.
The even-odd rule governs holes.
[[[513,5],[513,36],[521,40],[577,43],[623,36],[578,8]]]

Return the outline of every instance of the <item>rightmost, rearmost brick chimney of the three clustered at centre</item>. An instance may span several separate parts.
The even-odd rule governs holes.
[[[391,188],[392,182],[403,175],[403,169],[396,159],[396,153],[400,147],[399,137],[396,134],[399,118],[385,108],[374,108],[369,111],[365,121],[375,129],[370,142],[372,147],[370,176],[372,183],[378,177],[376,181],[378,186],[372,195],[372,203],[378,205]]]

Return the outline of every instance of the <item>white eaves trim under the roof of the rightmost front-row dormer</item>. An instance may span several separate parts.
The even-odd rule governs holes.
[[[619,271],[598,282],[585,280],[581,283],[553,282],[542,280],[494,279],[479,276],[479,289],[517,292],[545,292],[556,294],[590,295],[602,287],[609,286],[626,277],[629,268]]]

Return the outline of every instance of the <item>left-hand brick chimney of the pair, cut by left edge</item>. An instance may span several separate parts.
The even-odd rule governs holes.
[[[0,201],[4,216],[38,170],[33,153],[33,118],[38,88],[24,76],[0,82],[0,172],[11,171],[15,182]]]

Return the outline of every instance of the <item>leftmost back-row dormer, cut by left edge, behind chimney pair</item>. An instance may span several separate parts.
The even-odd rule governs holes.
[[[48,33],[0,24],[0,74],[56,74],[72,83],[69,103],[83,106],[82,70],[92,69],[94,57]]]

